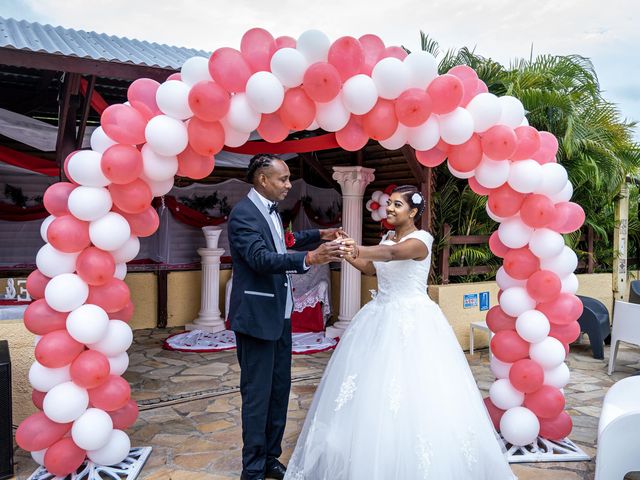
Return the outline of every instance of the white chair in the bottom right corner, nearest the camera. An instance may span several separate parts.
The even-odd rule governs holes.
[[[623,480],[640,470],[640,377],[616,382],[602,403],[595,480]]]

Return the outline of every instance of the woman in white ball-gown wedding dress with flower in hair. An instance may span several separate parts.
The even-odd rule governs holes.
[[[351,239],[347,259],[377,275],[327,365],[288,480],[511,480],[453,330],[427,295],[433,237],[414,221],[424,199],[397,187],[380,245]]]

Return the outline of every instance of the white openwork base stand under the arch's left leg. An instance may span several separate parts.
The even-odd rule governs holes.
[[[138,478],[147,458],[151,455],[151,447],[135,447],[129,451],[129,456],[115,465],[96,465],[86,460],[75,473],[66,477],[56,477],[46,468],[39,467],[31,474],[29,480],[133,480]]]

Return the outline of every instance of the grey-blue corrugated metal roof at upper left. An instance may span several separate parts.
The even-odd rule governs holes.
[[[208,57],[192,48],[172,47],[104,33],[31,23],[0,17],[0,48],[130,63],[179,70],[188,58]]]

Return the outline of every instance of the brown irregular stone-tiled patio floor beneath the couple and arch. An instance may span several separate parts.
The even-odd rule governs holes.
[[[241,470],[241,430],[239,367],[235,351],[203,354],[162,350],[162,340],[173,331],[138,330],[129,351],[131,363],[125,377],[131,383],[141,409],[140,417],[129,433],[132,445],[153,447],[139,478],[237,479]],[[292,453],[330,355],[294,356],[289,420],[281,458],[284,463]],[[608,349],[605,356],[608,356]],[[467,359],[478,386],[486,395],[493,379],[488,351],[467,355]],[[595,457],[602,398],[616,380],[640,369],[640,351],[621,348],[618,368],[612,377],[606,373],[606,361],[593,359],[586,345],[573,345],[568,362],[572,378],[565,393],[574,422],[570,438]],[[16,463],[19,479],[27,478],[36,468],[31,457],[19,449]],[[593,478],[595,459],[512,467],[520,480],[587,480]]]

